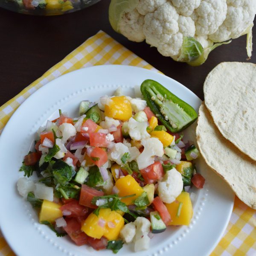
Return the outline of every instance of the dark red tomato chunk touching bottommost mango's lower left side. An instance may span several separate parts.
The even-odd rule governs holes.
[[[67,226],[64,227],[64,230],[70,238],[79,246],[87,244],[88,236],[81,231],[81,223],[76,218],[65,218],[65,221],[67,222]]]

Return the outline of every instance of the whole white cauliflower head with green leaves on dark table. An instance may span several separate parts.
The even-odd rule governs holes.
[[[111,0],[109,14],[113,29],[129,40],[145,39],[164,56],[200,65],[224,41],[251,35],[256,1]]]

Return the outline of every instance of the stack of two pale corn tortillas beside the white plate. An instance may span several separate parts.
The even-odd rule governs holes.
[[[256,64],[223,62],[204,82],[197,143],[206,163],[256,209]]]

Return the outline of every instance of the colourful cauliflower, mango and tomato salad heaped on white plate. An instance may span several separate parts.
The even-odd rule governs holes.
[[[147,250],[168,225],[189,225],[189,189],[204,177],[192,161],[199,151],[178,132],[197,114],[156,81],[140,90],[82,101],[79,117],[59,111],[39,128],[17,189],[57,236],[117,253],[124,243]]]

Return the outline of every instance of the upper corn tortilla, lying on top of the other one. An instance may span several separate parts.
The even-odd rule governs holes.
[[[218,64],[204,82],[204,99],[221,134],[256,160],[256,64]]]

